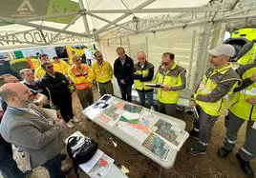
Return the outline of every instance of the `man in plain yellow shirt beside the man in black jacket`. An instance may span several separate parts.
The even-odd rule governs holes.
[[[114,95],[113,84],[113,69],[108,61],[103,61],[100,51],[95,52],[96,63],[93,65],[93,73],[95,80],[98,84],[99,93],[101,96],[104,94]]]

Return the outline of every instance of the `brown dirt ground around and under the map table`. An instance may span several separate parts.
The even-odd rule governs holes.
[[[99,94],[94,90],[95,100]],[[82,113],[77,95],[74,93],[74,112],[81,122],[75,124],[74,129],[68,129],[66,136],[80,130],[84,135],[96,139],[99,148],[106,154],[115,159],[117,167],[124,166],[129,169],[127,174],[130,178],[158,178],[160,166],[151,161],[134,148],[119,140],[115,135],[100,128],[94,122],[89,121]],[[193,120],[190,114],[180,113],[180,119],[186,123],[186,130],[192,129]],[[178,153],[174,168],[163,169],[162,178],[179,177],[179,178],[243,178],[245,177],[240,168],[235,154],[243,145],[245,140],[245,125],[239,132],[238,145],[227,158],[220,159],[216,155],[218,148],[222,146],[224,140],[224,119],[219,119],[212,130],[212,139],[207,148],[206,155],[192,156],[186,152],[186,148],[193,145],[194,140],[188,139],[180,152]],[[113,142],[117,143],[117,147]],[[256,169],[256,160],[251,163]],[[1,177],[1,176],[0,176]],[[69,178],[75,177],[73,172],[69,173]],[[85,173],[80,172],[80,177],[88,177]],[[40,178],[43,178],[42,176]]]

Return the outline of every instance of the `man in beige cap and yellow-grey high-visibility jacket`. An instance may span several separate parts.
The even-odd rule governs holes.
[[[235,54],[235,49],[231,45],[220,45],[208,50],[208,53],[212,68],[203,75],[203,80],[190,101],[190,107],[196,107],[199,114],[199,118],[195,119],[194,129],[189,132],[190,136],[197,140],[193,147],[188,148],[192,155],[206,153],[211,139],[211,129],[225,107],[225,100],[233,92],[238,81],[241,81],[228,62],[229,57]]]

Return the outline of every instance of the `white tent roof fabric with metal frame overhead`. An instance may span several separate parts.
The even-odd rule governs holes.
[[[53,0],[45,0],[53,1]],[[78,3],[80,10],[59,11],[50,15],[24,18],[10,18],[0,16],[1,41],[10,42],[16,38],[7,38],[7,33],[24,35],[24,31],[39,31],[44,35],[52,31],[53,38],[49,41],[34,42],[32,45],[49,45],[61,40],[60,34],[67,36],[101,39],[112,30],[118,35],[133,35],[170,28],[185,28],[196,24],[224,21],[232,22],[244,20],[250,23],[256,16],[254,0],[67,0]],[[20,1],[24,6],[31,0]],[[36,2],[36,1],[35,1]],[[1,3],[0,3],[1,4]],[[51,3],[48,3],[51,4]],[[53,3],[52,3],[53,4]],[[11,6],[11,5],[10,5]],[[19,7],[20,8],[20,7]],[[23,7],[24,10],[30,7]],[[69,18],[73,20],[67,24],[49,22],[49,18]],[[248,19],[248,17],[250,19]],[[245,19],[247,19],[245,21]],[[44,36],[43,36],[44,37]],[[18,37],[17,37],[18,38]],[[28,40],[26,41],[28,42]],[[9,44],[9,43],[8,43]],[[13,43],[12,43],[13,44]]]

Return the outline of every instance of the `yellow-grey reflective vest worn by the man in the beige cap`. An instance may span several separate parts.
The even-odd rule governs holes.
[[[211,116],[221,115],[223,109],[227,108],[227,99],[233,92],[233,89],[237,87],[237,82],[225,93],[224,97],[216,102],[206,102],[197,99],[197,95],[207,96],[213,89],[219,87],[228,81],[240,81],[238,74],[231,68],[231,65],[224,67],[223,69],[209,69],[204,75],[203,80],[199,88],[194,95],[195,102],[203,109],[203,111]],[[220,90],[222,92],[222,90]]]

